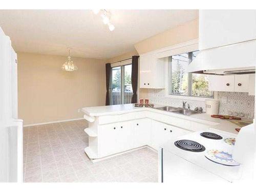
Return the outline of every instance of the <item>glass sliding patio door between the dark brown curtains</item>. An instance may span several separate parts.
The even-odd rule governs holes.
[[[111,104],[131,103],[132,65],[124,65],[111,68]]]

